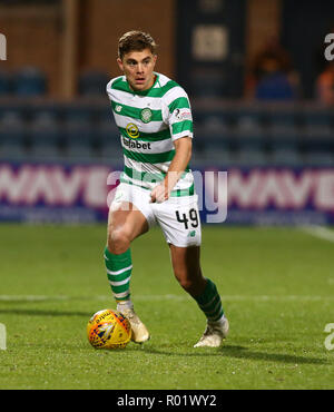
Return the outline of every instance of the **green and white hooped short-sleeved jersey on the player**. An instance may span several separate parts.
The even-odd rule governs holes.
[[[125,76],[111,79],[107,94],[120,131],[125,168],[120,182],[151,189],[166,176],[175,155],[173,141],[193,138],[193,116],[186,91],[167,76],[155,73],[154,86],[134,91]],[[187,167],[171,196],[194,194]]]

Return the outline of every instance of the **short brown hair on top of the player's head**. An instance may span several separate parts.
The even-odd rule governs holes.
[[[118,40],[118,57],[120,59],[130,51],[143,51],[144,49],[149,49],[153,55],[156,53],[157,49],[157,45],[153,37],[144,31],[128,31]]]

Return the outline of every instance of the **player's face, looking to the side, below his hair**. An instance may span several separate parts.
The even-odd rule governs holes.
[[[117,59],[117,62],[131,89],[140,91],[153,87],[156,60],[156,55],[153,55],[149,49],[144,49],[141,51],[130,51],[122,59]]]

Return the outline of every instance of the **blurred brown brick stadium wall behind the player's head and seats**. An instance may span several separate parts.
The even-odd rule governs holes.
[[[23,66],[40,68],[48,78],[48,96],[61,99],[65,97],[66,76],[72,76],[72,71],[78,76],[86,69],[99,69],[110,73],[110,77],[118,75],[115,62],[117,40],[125,30],[139,28],[149,31],[160,45],[157,70],[173,78],[178,76],[177,61],[181,55],[177,55],[180,41],[176,30],[177,0],[77,1],[79,16],[76,21],[79,21],[79,27],[76,39],[72,39],[76,58],[70,72],[66,72],[68,65],[63,52],[66,28],[70,20],[65,13],[66,1],[50,1],[38,7],[0,4],[0,28],[8,39],[8,59],[1,61],[2,69],[14,71]],[[279,31],[281,2],[247,1],[246,67],[252,63],[268,32]]]

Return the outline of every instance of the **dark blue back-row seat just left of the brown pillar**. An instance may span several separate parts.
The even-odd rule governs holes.
[[[47,91],[45,73],[36,67],[24,67],[13,75],[13,94],[18,97],[43,96]]]

